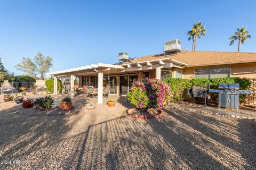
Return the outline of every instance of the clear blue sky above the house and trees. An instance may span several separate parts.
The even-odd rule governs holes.
[[[7,70],[38,51],[53,58],[50,71],[116,63],[120,52],[140,57],[163,52],[180,39],[191,50],[187,31],[195,21],[207,30],[197,50],[237,51],[229,46],[236,27],[252,38],[241,52],[256,52],[256,1],[1,1],[0,54]]]

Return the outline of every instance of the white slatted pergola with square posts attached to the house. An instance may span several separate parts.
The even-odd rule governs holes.
[[[79,75],[95,74],[98,73],[98,104],[102,104],[103,100],[103,73],[111,72],[118,74],[125,74],[129,72],[155,70],[155,78],[161,79],[161,69],[170,69],[176,67],[182,69],[187,64],[182,63],[172,58],[161,58],[158,60],[149,60],[142,62],[120,63],[117,64],[91,64],[82,67],[76,67],[73,69],[67,69],[57,72],[47,73],[46,75],[52,75],[54,78],[54,95],[57,95],[57,77],[70,76],[70,92],[71,97],[74,97],[74,80]]]

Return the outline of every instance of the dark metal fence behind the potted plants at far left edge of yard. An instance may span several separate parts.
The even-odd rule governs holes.
[[[37,82],[0,82],[0,94],[18,94],[47,90],[45,84]]]

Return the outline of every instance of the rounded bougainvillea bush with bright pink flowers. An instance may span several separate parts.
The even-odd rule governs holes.
[[[137,108],[162,109],[172,100],[170,86],[158,79],[142,79],[130,88],[127,94],[130,103]]]

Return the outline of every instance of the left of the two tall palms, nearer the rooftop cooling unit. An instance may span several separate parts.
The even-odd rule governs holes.
[[[196,50],[196,40],[197,38],[201,38],[201,36],[205,36],[205,28],[204,28],[204,25],[202,25],[202,22],[195,22],[193,24],[193,28],[191,28],[190,31],[188,31],[188,36],[190,36],[188,38],[188,40],[192,39],[193,38],[193,45],[192,45],[192,50]]]

